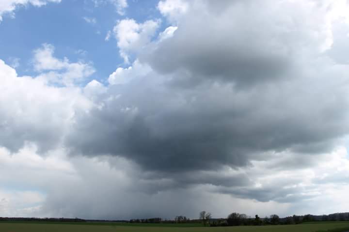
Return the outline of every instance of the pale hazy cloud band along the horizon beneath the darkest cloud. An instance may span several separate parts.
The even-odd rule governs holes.
[[[0,160],[5,167],[0,170],[0,173],[6,173],[1,175],[4,177],[0,178],[1,186],[10,184],[21,186],[22,189],[31,187],[40,189],[29,191],[30,194],[27,193],[28,190],[17,191],[16,194],[0,190],[0,196],[5,198],[3,202],[0,201],[0,205],[7,205],[1,209],[5,215],[9,216],[104,219],[174,218],[175,215],[196,218],[203,208],[209,209],[214,217],[226,217],[232,211],[232,204],[234,204],[234,211],[251,216],[273,213],[280,216],[309,212],[322,214],[328,213],[329,208],[332,210],[330,212],[345,211],[345,205],[343,205],[345,198],[338,202],[338,198],[333,197],[345,196],[348,191],[345,185],[334,187],[330,183],[319,185],[313,182],[321,178],[321,172],[330,172],[332,168],[329,167],[334,165],[333,168],[336,168],[335,163],[340,163],[343,155],[347,155],[345,149],[339,149],[335,154],[323,156],[319,165],[313,165],[312,169],[289,172],[285,170],[278,174],[273,169],[268,170],[263,167],[267,162],[255,164],[249,170],[226,168],[219,172],[190,173],[193,176],[178,173],[182,181],[187,184],[179,183],[174,187],[168,185],[170,182],[167,179],[168,176],[158,175],[158,178],[149,178],[149,175],[141,171],[136,164],[121,157],[67,157],[64,150],[57,149],[44,158],[38,155],[35,148],[30,145],[15,154],[9,153],[6,149],[0,149]],[[329,163],[331,164],[328,165]],[[18,167],[20,167],[19,170]],[[346,163],[339,167],[346,167]],[[257,185],[251,186],[241,174],[238,174],[243,172],[251,180],[257,181]],[[221,176],[221,180],[225,179],[229,183],[234,183],[229,180],[234,180],[235,176],[236,179],[240,179],[240,189],[236,184],[231,187],[223,184],[222,186],[225,186],[223,190],[222,186],[197,185],[197,181],[188,183],[195,179],[205,182],[205,180],[211,180],[213,176],[216,176],[217,181],[220,180],[217,177]],[[90,194],[92,191],[93,196]],[[268,198],[270,192],[281,202],[250,199]],[[324,192],[326,194],[319,194]],[[28,194],[27,197],[22,197],[24,194]],[[291,200],[292,194],[300,197]],[[16,195],[21,196],[17,199],[18,201],[15,201]],[[281,196],[291,200],[292,203],[285,202]],[[10,197],[12,206],[8,207]],[[86,204],[86,201],[89,201],[89,204]],[[62,204],[62,202],[66,203]],[[323,205],[324,202],[326,202],[325,205]],[[300,203],[306,204],[306,207],[301,207]],[[328,204],[331,206],[328,207]],[[335,208],[333,204],[336,205]],[[323,205],[323,207],[318,208],[317,205]]]

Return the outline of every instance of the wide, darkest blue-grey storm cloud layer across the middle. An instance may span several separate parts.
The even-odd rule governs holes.
[[[330,151],[333,139],[348,130],[341,107],[347,100],[338,92],[328,101],[333,93],[326,86],[313,84],[315,91],[303,83],[243,91],[209,84],[178,92],[136,81],[111,89],[121,96],[102,109],[77,116],[67,144],[72,153],[120,155],[145,170],[174,173],[244,167],[266,151]],[[292,160],[294,167],[303,163]]]

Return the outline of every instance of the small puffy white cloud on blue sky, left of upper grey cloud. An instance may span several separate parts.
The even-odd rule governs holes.
[[[113,28],[120,55],[129,63],[129,53],[137,52],[148,44],[159,28],[160,21],[147,20],[137,23],[134,19],[123,19]]]

